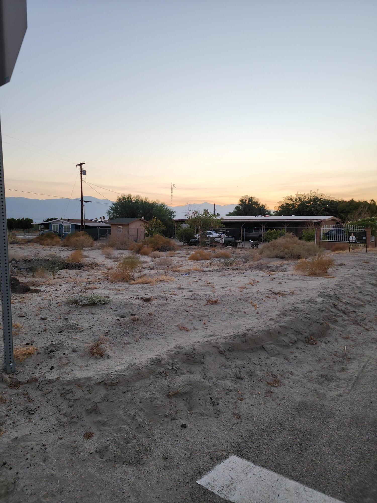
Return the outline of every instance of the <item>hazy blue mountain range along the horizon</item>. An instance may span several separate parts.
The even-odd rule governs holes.
[[[112,201],[109,199],[98,199],[92,196],[84,196],[85,218],[107,218],[107,210]],[[91,201],[91,202],[89,202]],[[7,197],[7,217],[8,218],[32,218],[35,222],[53,217],[80,218],[79,199],[29,199],[26,197]],[[216,213],[220,216],[226,215],[234,210],[236,204],[216,205]],[[214,205],[210,203],[193,203],[185,206],[173,206],[176,218],[184,218],[187,211],[205,209],[213,212]]]

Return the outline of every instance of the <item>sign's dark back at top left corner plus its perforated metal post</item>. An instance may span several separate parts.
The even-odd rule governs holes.
[[[11,80],[27,28],[26,0],[0,0],[0,86]],[[3,316],[4,369],[15,372],[13,359],[11,276],[5,202],[2,129],[0,123],[0,288]]]

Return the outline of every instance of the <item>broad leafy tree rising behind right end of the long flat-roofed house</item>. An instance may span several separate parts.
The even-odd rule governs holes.
[[[282,201],[279,201],[274,215],[336,216],[337,204],[337,200],[318,191],[310,191],[307,194],[297,192],[295,196],[286,196]]]

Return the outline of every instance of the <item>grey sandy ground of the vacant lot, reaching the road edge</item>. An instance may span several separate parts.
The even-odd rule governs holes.
[[[13,295],[14,343],[38,352],[0,391],[3,501],[220,501],[195,481],[231,454],[347,503],[377,500],[377,253],[332,254],[330,276],[313,278],[245,262],[247,250],[230,269],[191,251],[156,284],[111,283],[116,262],[98,248],[85,250],[94,267],[18,274],[40,291]],[[164,273],[165,258],[142,257],[135,277]],[[67,304],[85,290],[111,303]]]

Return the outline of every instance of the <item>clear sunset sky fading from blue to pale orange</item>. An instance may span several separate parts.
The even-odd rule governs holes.
[[[111,200],[375,198],[376,22],[374,0],[28,0],[6,194],[78,197],[85,161]]]

